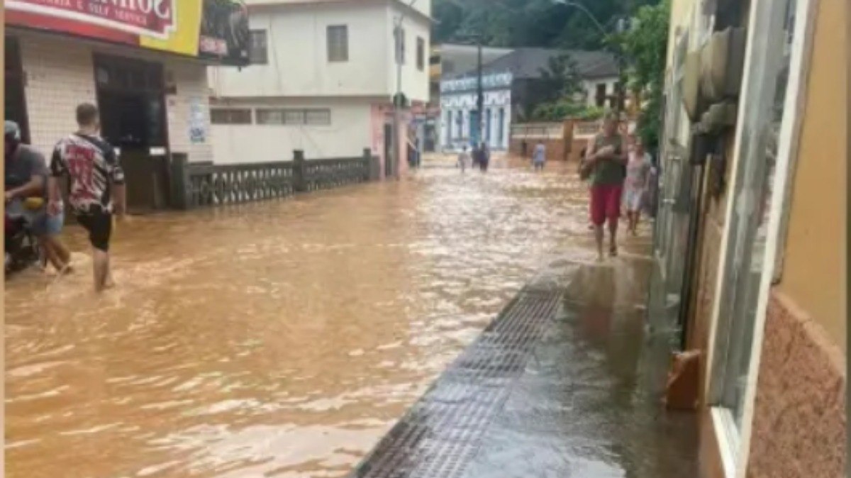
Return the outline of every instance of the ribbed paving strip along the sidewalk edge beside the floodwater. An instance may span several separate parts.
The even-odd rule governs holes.
[[[437,379],[352,478],[457,478],[555,316],[560,293],[523,291]]]

